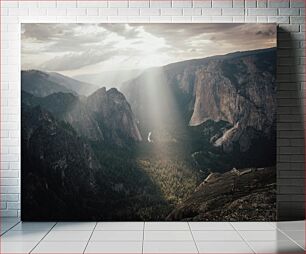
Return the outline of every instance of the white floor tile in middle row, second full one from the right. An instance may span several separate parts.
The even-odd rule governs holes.
[[[192,231],[195,241],[243,241],[236,231]]]

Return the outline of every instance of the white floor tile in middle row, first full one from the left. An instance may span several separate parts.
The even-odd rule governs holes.
[[[16,231],[17,232],[17,231]],[[92,231],[50,231],[43,239],[44,242],[86,242]]]

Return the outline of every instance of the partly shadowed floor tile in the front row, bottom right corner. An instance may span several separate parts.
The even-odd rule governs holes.
[[[248,242],[255,253],[304,253],[304,250],[291,241]]]

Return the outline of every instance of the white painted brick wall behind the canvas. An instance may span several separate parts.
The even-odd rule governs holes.
[[[305,80],[304,0],[0,1],[1,216],[20,215],[20,23],[275,22],[278,57],[278,207],[281,218],[303,213]],[[246,38],[247,39],[247,38]]]

